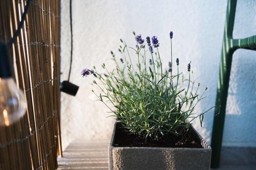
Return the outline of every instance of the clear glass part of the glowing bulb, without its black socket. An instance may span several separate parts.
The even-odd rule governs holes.
[[[13,78],[0,78],[0,126],[9,126],[26,113],[24,93]]]

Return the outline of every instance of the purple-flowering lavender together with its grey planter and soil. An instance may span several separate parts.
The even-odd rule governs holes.
[[[179,58],[172,63],[172,37],[170,32],[171,54],[166,69],[157,37],[147,37],[144,43],[137,35],[136,48],[128,48],[120,39],[120,60],[111,51],[114,70],[109,71],[103,64],[106,73],[97,72],[95,67],[81,73],[83,77],[94,75],[97,81],[93,83],[102,90],[96,95],[117,120],[109,144],[109,169],[210,169],[212,149],[191,122],[199,118],[202,126],[204,114],[213,107],[199,115],[194,113],[205,91],[197,94],[200,83],[195,87],[191,80],[190,63],[186,66],[187,79],[179,70]],[[136,55],[136,67],[129,50]]]

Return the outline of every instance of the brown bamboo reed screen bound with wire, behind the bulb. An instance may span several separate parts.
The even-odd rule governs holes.
[[[0,1],[0,39],[12,39],[26,0]],[[0,170],[57,169],[60,140],[60,0],[32,0],[9,48],[27,114],[0,127]],[[14,56],[14,57],[13,57]],[[1,62],[1,61],[0,61]]]

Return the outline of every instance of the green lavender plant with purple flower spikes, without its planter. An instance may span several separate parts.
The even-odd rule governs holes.
[[[134,32],[133,34],[136,35]],[[93,80],[102,91],[99,95],[96,94],[99,100],[122,122],[124,128],[145,137],[145,142],[148,137],[158,141],[160,136],[166,134],[187,136],[191,122],[199,117],[202,126],[204,114],[213,108],[199,115],[194,113],[196,104],[204,98],[207,88],[200,96],[197,94],[200,83],[193,90],[195,82],[190,78],[190,63],[187,65],[188,79],[181,76],[179,58],[175,64],[172,63],[172,38],[173,33],[170,32],[171,55],[170,62],[166,64],[167,69],[163,69],[157,37],[146,37],[144,43],[145,40],[139,34],[135,36],[136,48],[128,48],[120,39],[123,47],[120,46],[119,51],[123,58],[117,59],[111,51],[116,63],[114,70],[108,70],[103,63],[105,73],[97,72],[95,66],[94,70],[84,69],[81,72],[83,77],[93,74],[101,82],[99,85]],[[138,60],[136,67],[132,64],[134,57],[130,55],[130,50]],[[174,68],[177,69],[175,75],[172,71]],[[183,87],[184,84],[186,87]]]

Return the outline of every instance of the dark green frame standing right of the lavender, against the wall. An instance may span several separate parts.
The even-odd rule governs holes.
[[[233,27],[236,13],[236,0],[228,0],[222,52],[220,59],[220,72],[218,78],[216,105],[220,107],[220,114],[213,121],[212,129],[212,160],[211,167],[218,168],[220,164],[220,151],[222,144],[225,110],[228,97],[228,84],[232,63],[232,55],[238,48],[256,50],[256,35],[244,39],[233,39]],[[219,109],[215,110],[215,114]]]

